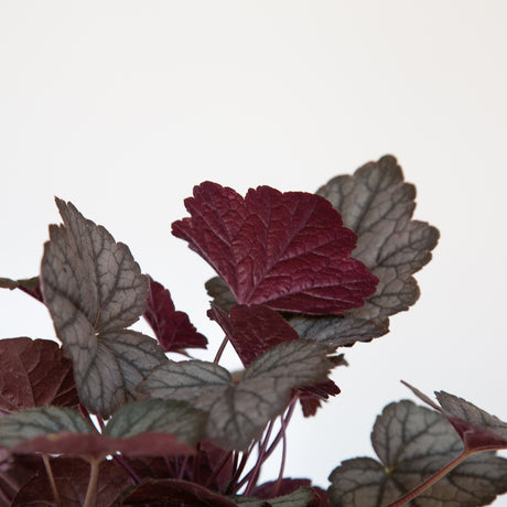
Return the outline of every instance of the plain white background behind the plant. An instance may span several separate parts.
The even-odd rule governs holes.
[[[506,53],[494,0],[3,0],[0,276],[37,273],[53,196],[69,199],[171,290],[211,358],[213,272],[170,234],[193,185],[313,192],[392,153],[442,238],[417,305],[346,349],[343,393],[292,422],[287,475],[326,487],[371,454],[376,414],[411,398],[399,379],[507,420]],[[0,336],[22,335],[53,337],[48,313],[1,291]]]

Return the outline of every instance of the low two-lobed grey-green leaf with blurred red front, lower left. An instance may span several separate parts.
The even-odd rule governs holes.
[[[99,434],[77,411],[45,407],[0,419],[0,445],[17,453],[82,456],[190,454],[206,419],[184,402],[143,400],[118,410]]]

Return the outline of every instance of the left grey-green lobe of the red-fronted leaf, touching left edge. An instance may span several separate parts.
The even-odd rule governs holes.
[[[0,418],[0,446],[15,447],[37,436],[62,433],[94,433],[77,411],[64,407],[28,409]]]

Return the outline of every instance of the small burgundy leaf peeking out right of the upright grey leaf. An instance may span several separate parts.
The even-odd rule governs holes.
[[[148,308],[144,319],[165,352],[183,348],[206,348],[207,339],[197,333],[184,312],[177,312],[171,293],[161,283],[148,277]]]

